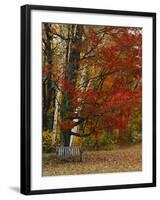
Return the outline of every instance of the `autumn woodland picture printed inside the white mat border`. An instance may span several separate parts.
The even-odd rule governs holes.
[[[142,170],[142,28],[42,23],[42,97],[44,176]]]

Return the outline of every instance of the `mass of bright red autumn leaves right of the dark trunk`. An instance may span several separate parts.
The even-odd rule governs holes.
[[[79,115],[86,117],[88,127],[96,126],[97,131],[105,128],[124,130],[128,127],[130,116],[141,107],[142,36],[141,33],[133,34],[126,28],[115,31],[114,27],[110,27],[106,32],[114,42],[98,48],[96,53],[103,60],[101,68],[104,75],[111,77],[113,74],[109,80],[111,84],[101,90],[90,87],[82,91],[71,81],[64,79],[62,88],[69,91],[73,110],[80,109]],[[94,32],[91,38],[92,46],[100,42]],[[138,84],[137,88],[133,87],[135,84]],[[72,120],[61,124],[66,130],[73,126]]]

